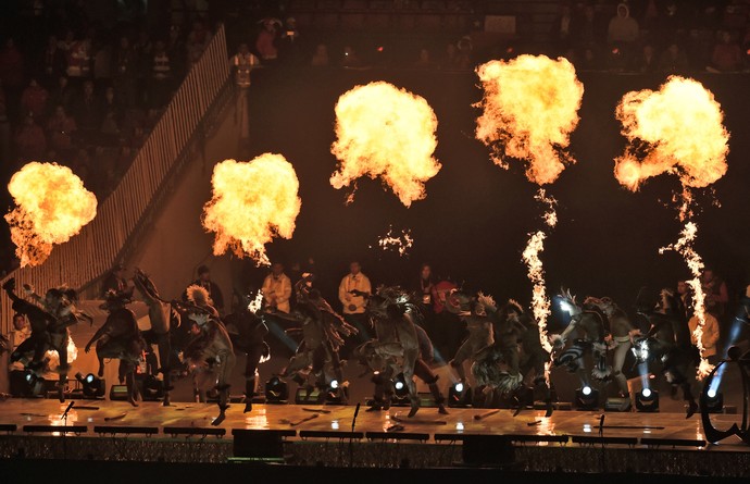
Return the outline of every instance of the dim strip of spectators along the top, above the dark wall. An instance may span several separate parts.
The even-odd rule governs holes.
[[[512,5],[500,9],[502,2],[467,2],[465,11],[455,7],[468,18],[465,32],[415,30],[409,36],[380,35],[380,40],[372,30],[347,29],[345,21],[335,27],[313,23],[298,28],[293,15],[304,14],[309,20],[310,12],[296,10],[297,2],[286,3],[275,11],[266,9],[265,18],[253,18],[251,28],[245,24],[242,29],[242,41],[254,35],[251,50],[264,64],[463,71],[489,59],[546,53],[563,55],[582,71],[723,73],[750,67],[748,0],[563,0],[551,22],[541,13],[528,14],[535,9],[530,5],[518,12],[516,34],[504,37],[485,32],[484,18],[514,15]],[[380,3],[388,2],[375,3],[373,16],[380,14]],[[390,7],[393,12],[403,8],[397,3]],[[410,7],[432,12],[434,4],[448,3],[410,2]],[[340,18],[351,14],[343,7],[338,12]],[[538,30],[546,26],[549,32],[542,39]]]

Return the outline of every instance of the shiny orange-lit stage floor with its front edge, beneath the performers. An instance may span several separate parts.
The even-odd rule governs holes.
[[[367,412],[363,406],[351,433],[354,406],[254,405],[252,412],[242,413],[243,405],[233,404],[226,419],[212,425],[218,413],[212,404],[139,402],[134,408],[121,401],[75,400],[66,422],[71,432],[63,436],[50,426],[65,423],[61,417],[68,404],[0,401],[0,458],[222,462],[238,457],[233,432],[255,430],[283,431],[288,434],[285,454],[296,455],[298,463],[318,466],[350,459],[349,464],[382,461],[398,467],[404,458],[412,467],[449,466],[462,459],[465,438],[489,435],[509,436],[514,459],[523,460],[527,470],[596,472],[598,452],[607,448],[612,456],[609,469],[648,469],[663,460],[672,462],[675,473],[700,474],[707,466],[718,475],[727,467],[740,466],[735,473],[750,472],[750,446],[739,439],[701,443],[699,414],[685,419],[680,413],[607,412],[600,433],[601,411],[558,410],[546,418],[541,410],[513,417],[508,409],[489,414],[490,409],[449,408],[449,414],[441,415],[435,408],[422,408],[409,419],[407,407]],[[716,426],[728,427],[741,415],[713,419]],[[224,435],[212,434],[220,432]],[[596,440],[600,436],[607,440]],[[585,464],[589,468],[583,469]]]

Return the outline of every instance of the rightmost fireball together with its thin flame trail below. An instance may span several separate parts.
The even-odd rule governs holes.
[[[711,372],[703,358],[703,325],[705,323],[705,295],[700,283],[703,261],[693,243],[698,225],[691,220],[693,189],[705,188],[724,176],[727,170],[729,134],[724,127],[724,114],[713,94],[699,82],[672,76],[658,91],[627,92],[615,111],[623,124],[622,134],[629,144],[615,159],[614,175],[632,191],[652,176],[671,173],[679,176],[682,193],[678,219],[684,223],[679,239],[659,249],[674,250],[684,259],[692,278],[688,285],[693,291],[692,309],[698,318],[693,338],[701,351],[698,378]]]

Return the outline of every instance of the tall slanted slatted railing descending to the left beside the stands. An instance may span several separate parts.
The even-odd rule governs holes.
[[[13,271],[17,287],[39,290],[66,284],[91,289],[127,255],[152,216],[180,165],[195,159],[205,138],[207,119],[230,87],[224,27],[218,27],[136,154],[117,187],[100,202],[97,216],[68,243],[55,246],[41,265]],[[90,291],[90,290],[89,290]],[[11,301],[1,291],[0,331],[11,327]]]

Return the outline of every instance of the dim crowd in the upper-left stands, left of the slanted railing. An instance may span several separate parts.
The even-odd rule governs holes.
[[[208,46],[212,24],[196,14],[180,24],[135,17],[109,26],[79,1],[34,4],[30,20],[7,17],[0,32],[3,185],[29,161],[57,162],[101,202]],[[2,202],[11,203],[8,194]],[[4,273],[17,261],[2,238]]]

